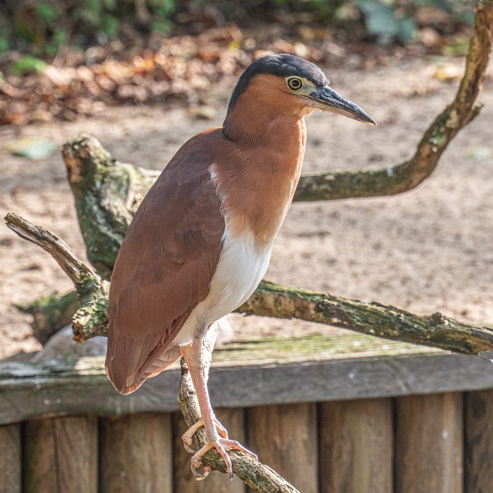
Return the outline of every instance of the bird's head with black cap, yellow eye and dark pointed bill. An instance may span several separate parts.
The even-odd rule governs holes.
[[[266,55],[243,72],[231,95],[228,115],[241,104],[242,109],[255,105],[299,116],[328,111],[376,125],[373,118],[329,84],[322,70],[303,58],[285,53]]]

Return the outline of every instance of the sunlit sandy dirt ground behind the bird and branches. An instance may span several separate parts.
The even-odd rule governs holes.
[[[453,62],[459,67],[460,60]],[[412,155],[423,131],[452,100],[457,81],[432,76],[432,62],[399,62],[371,70],[326,70],[332,86],[363,107],[377,127],[335,115],[308,119],[304,171],[385,167]],[[59,154],[29,161],[3,148],[41,136],[61,145],[80,132],[115,157],[162,169],[200,130],[222,123],[234,81],[215,89],[217,117],[185,110],[114,107],[72,123],[0,129],[0,213],[44,226],[82,258],[84,245]],[[441,311],[472,323],[493,322],[493,81],[480,116],[449,146],[436,172],[416,190],[388,198],[293,204],[275,243],[266,279],[392,304],[419,314]],[[0,228],[0,358],[39,349],[29,302],[71,284],[51,257]],[[237,337],[331,330],[299,321],[231,317]]]

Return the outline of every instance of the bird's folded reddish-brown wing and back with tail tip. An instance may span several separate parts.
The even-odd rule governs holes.
[[[121,393],[179,356],[171,343],[209,293],[224,232],[208,171],[217,132],[199,134],[178,150],[142,200],[118,253],[106,374]]]

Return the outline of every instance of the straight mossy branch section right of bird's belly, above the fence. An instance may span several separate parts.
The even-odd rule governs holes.
[[[478,354],[493,348],[490,327],[466,325],[439,313],[421,317],[380,303],[355,301],[272,282],[262,282],[237,311],[265,317],[298,318],[464,354]]]

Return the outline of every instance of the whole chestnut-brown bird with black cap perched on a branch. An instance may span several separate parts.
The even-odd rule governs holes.
[[[203,424],[207,439],[192,470],[215,448],[232,478],[226,450],[251,454],[214,417],[199,349],[211,324],[242,305],[267,270],[300,177],[305,117],[317,110],[375,124],[316,65],[286,54],[255,60],[233,90],[223,126],[178,150],[118,253],[106,374],[128,394],[183,356],[202,413],[188,435]]]

